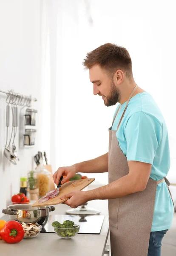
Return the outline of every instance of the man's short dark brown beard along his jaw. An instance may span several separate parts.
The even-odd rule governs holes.
[[[116,103],[120,101],[120,98],[120,90],[119,88],[116,88],[114,81],[112,80],[110,95],[106,97],[107,102],[105,102],[105,106],[110,107],[116,105]]]

